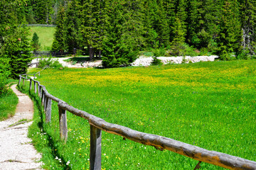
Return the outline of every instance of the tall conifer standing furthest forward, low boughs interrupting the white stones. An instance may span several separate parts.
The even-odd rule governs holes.
[[[138,1],[132,1],[134,3]],[[132,63],[138,52],[139,40],[135,40],[136,26],[130,24],[127,26],[127,19],[131,17],[132,22],[137,22],[137,15],[132,16],[131,13],[139,11],[136,4],[127,4],[127,1],[114,0],[107,8],[107,36],[103,41],[103,56],[102,65],[103,67],[121,67],[128,66]],[[137,11],[136,11],[137,10]],[[130,31],[127,28],[131,29]],[[139,31],[138,31],[139,32]],[[129,35],[129,36],[128,36]],[[140,35],[139,35],[140,36]],[[126,38],[127,39],[126,41]],[[131,43],[134,40],[134,43]]]

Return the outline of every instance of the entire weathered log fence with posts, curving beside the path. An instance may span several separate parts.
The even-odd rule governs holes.
[[[40,72],[36,74],[40,75]],[[32,75],[36,77],[36,74]],[[112,133],[114,135],[125,137],[134,142],[139,142],[143,145],[153,146],[159,150],[167,149],[171,152],[176,152],[177,154],[182,154],[183,156],[198,160],[199,162],[196,165],[195,169],[200,168],[201,162],[214,164],[216,166],[221,166],[226,169],[256,169],[256,162],[252,162],[247,159],[234,157],[232,155],[223,154],[221,152],[210,151],[177,140],[172,140],[167,137],[139,132],[124,127],[122,125],[107,123],[102,118],[97,118],[95,115],[91,115],[89,113],[86,113],[85,111],[80,111],[78,110],[78,108],[74,108],[73,106],[68,105],[68,103],[65,103],[65,101],[62,101],[59,98],[49,94],[45,86],[41,85],[39,81],[28,78],[28,75],[29,74],[23,74],[19,76],[18,86],[21,86],[22,79],[24,85],[24,79],[26,79],[30,81],[29,90],[31,90],[33,82],[34,92],[37,93],[38,89],[38,96],[40,96],[41,98],[41,103],[46,113],[46,123],[50,122],[52,101],[58,103],[61,140],[63,140],[64,142],[68,140],[68,124],[66,111],[85,118],[90,123],[90,170],[101,169],[102,130]]]

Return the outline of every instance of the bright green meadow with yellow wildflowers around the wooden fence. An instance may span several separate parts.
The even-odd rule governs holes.
[[[256,161],[256,61],[199,62],[115,69],[45,69],[50,94],[107,122]],[[30,69],[29,73],[38,72]],[[90,125],[68,113],[60,141],[58,106],[52,120],[38,95],[29,136],[45,169],[89,169]],[[198,161],[102,132],[102,169],[194,169]],[[201,169],[223,169],[201,163]]]

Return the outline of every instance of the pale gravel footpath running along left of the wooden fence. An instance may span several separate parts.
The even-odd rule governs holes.
[[[11,89],[18,96],[18,106],[14,117],[0,122],[0,169],[41,169],[41,154],[36,152],[31,139],[27,137],[28,126],[33,118],[33,102],[31,99],[16,89],[16,84]]]

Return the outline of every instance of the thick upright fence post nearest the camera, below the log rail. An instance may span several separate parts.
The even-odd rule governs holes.
[[[101,169],[101,137],[101,130],[90,125],[90,170]]]

